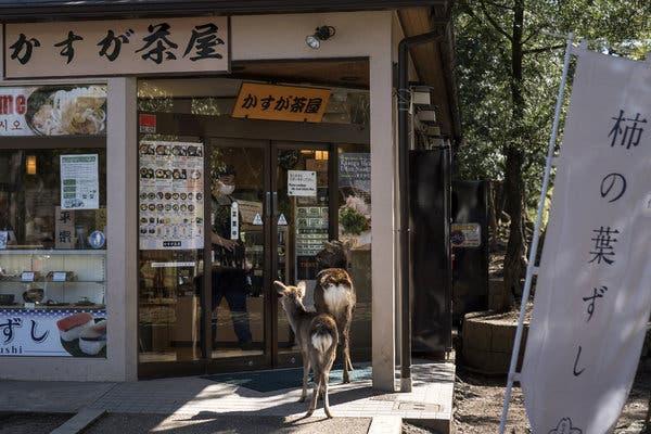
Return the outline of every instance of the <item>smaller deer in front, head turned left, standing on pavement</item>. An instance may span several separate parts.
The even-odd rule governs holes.
[[[273,285],[278,295],[281,296],[280,303],[296,335],[303,356],[302,403],[307,397],[307,375],[310,367],[314,372],[315,388],[306,417],[310,417],[315,412],[317,399],[322,395],[326,416],[332,418],[328,398],[328,381],[339,344],[336,322],[328,314],[317,314],[305,308],[303,305],[305,282],[298,282],[296,286],[286,286],[282,282],[276,281]]]

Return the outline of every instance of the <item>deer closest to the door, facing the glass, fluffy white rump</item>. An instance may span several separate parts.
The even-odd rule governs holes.
[[[326,243],[317,254],[317,264],[321,271],[317,275],[315,288],[315,308],[319,314],[330,314],[336,321],[342,344],[344,383],[350,382],[348,371],[350,361],[350,324],[357,296],[348,268],[348,247],[340,241]]]

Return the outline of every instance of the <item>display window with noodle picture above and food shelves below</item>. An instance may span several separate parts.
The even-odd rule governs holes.
[[[106,87],[0,87],[0,356],[106,357]]]

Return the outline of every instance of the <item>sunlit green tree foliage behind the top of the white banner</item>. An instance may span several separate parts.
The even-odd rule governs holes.
[[[521,116],[511,100],[519,1],[524,3]],[[505,151],[518,146],[525,151],[526,205],[535,207],[562,69],[562,35],[573,31],[592,50],[639,60],[651,50],[650,15],[651,2],[644,0],[459,0],[456,72],[464,143],[457,177],[502,180]]]

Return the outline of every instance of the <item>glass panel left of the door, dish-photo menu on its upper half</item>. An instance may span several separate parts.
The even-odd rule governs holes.
[[[204,145],[139,142],[140,362],[202,357]]]

